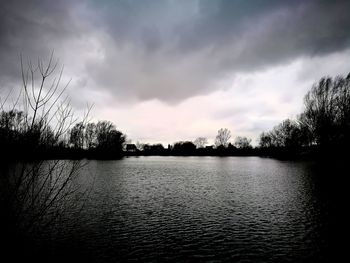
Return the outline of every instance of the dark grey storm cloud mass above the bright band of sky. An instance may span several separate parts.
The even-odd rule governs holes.
[[[80,61],[66,74],[90,89],[179,102],[226,76],[347,49],[349,10],[316,0],[2,1],[1,89],[19,75],[20,52],[55,49]]]

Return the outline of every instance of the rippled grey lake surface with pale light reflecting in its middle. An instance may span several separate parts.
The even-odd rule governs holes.
[[[90,161],[77,182],[92,185],[89,198],[59,238],[101,262],[326,260],[336,218],[317,167],[258,157]]]

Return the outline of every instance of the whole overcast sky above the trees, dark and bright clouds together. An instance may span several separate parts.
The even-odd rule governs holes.
[[[220,128],[259,134],[303,109],[323,76],[350,72],[350,1],[0,0],[0,96],[21,87],[19,56],[64,65],[79,115],[133,142]]]

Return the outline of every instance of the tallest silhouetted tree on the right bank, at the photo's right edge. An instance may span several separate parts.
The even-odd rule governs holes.
[[[304,98],[305,110],[300,122],[313,135],[313,142],[327,146],[349,142],[350,74],[322,78]]]

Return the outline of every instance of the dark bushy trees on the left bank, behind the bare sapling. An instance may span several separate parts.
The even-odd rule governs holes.
[[[1,154],[11,159],[120,157],[126,136],[110,121],[78,122],[60,135],[46,119],[28,126],[23,111],[0,112]]]

